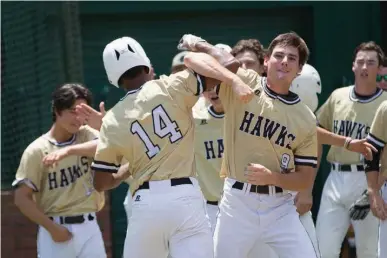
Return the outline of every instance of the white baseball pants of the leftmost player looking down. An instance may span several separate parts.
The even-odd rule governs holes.
[[[106,258],[105,245],[101,230],[97,223],[95,213],[93,220],[88,219],[82,224],[63,224],[72,234],[73,238],[64,243],[56,243],[50,233],[43,227],[38,232],[38,257],[39,258]],[[60,224],[60,218],[54,217],[54,221]]]

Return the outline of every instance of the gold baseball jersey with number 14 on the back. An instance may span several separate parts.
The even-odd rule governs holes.
[[[116,173],[125,158],[138,185],[195,176],[192,107],[203,90],[184,70],[128,92],[103,118],[92,168]]]

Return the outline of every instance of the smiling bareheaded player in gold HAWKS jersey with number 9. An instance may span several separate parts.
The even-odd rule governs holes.
[[[251,102],[239,102],[225,84],[217,88],[226,114],[221,171],[226,179],[215,257],[247,257],[257,242],[269,244],[279,257],[316,257],[294,206],[294,192],[313,184],[316,120],[289,92],[308,55],[298,35],[281,34],[265,57],[267,79],[252,70],[238,70],[254,91]],[[185,64],[203,76],[219,80],[222,75],[220,65],[205,54],[188,54]]]

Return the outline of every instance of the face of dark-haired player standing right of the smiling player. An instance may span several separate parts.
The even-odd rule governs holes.
[[[378,54],[375,51],[359,51],[353,62],[352,71],[357,82],[374,83],[379,71]]]

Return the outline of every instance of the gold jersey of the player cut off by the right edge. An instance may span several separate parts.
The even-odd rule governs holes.
[[[387,177],[387,101],[383,101],[376,111],[367,141],[381,152],[380,169],[384,177]],[[379,161],[377,161],[379,163]]]

